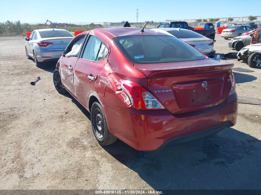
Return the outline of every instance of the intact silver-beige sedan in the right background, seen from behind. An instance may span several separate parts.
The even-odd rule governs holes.
[[[241,36],[242,33],[248,32],[250,30],[253,30],[253,28],[249,26],[230,26],[222,30],[221,37],[224,39],[234,38]]]

